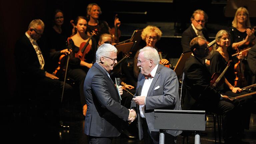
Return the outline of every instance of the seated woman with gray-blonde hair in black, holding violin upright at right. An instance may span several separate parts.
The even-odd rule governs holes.
[[[227,67],[227,63],[229,60],[233,60],[231,54],[227,51],[228,47],[230,46],[230,34],[226,30],[220,30],[216,34],[216,51],[213,51],[210,59],[210,72],[211,74],[214,74],[216,72],[222,73],[224,69]],[[242,52],[237,55],[238,59],[243,59]],[[240,63],[241,65],[242,63]],[[218,86],[217,90],[223,94],[228,95],[231,97],[236,97],[239,95],[247,94],[247,92],[242,92],[242,89],[239,87],[246,87],[248,86],[246,84],[245,79],[241,79],[239,76],[239,73],[237,73],[237,76],[234,72],[234,60],[230,62],[230,66],[228,67],[227,71],[224,74],[225,77],[225,83]],[[236,69],[238,72],[239,70]],[[240,71],[241,72],[241,71]],[[241,74],[241,73],[240,73]],[[237,87],[234,87],[235,85],[234,80],[238,77],[239,79],[237,82]],[[250,124],[250,116],[251,116],[251,99],[252,96],[247,96],[244,98],[236,99],[237,103],[240,104],[239,112],[241,113],[241,121],[243,124],[243,127],[246,129],[249,129]],[[240,129],[240,133],[243,133],[244,129]]]

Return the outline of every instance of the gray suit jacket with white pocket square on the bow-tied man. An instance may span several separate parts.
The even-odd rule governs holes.
[[[144,81],[145,77],[140,73],[138,76],[138,84],[134,97],[141,95]],[[157,86],[159,86],[159,88],[154,90]],[[146,97],[145,118],[147,120],[150,133],[152,131],[159,131],[159,129],[154,129],[154,109],[178,110],[179,105],[179,83],[177,75],[172,69],[159,64]],[[143,138],[143,130],[139,114],[139,105],[136,105],[136,103],[132,100],[131,108],[135,108],[137,111],[139,139],[141,140]],[[167,133],[173,136],[177,136],[181,134],[181,132],[182,131],[173,130],[167,131]]]

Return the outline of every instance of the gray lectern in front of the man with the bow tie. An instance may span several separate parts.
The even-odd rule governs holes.
[[[195,144],[200,144],[199,131],[205,130],[205,111],[154,110],[154,128],[159,129],[159,144],[164,144],[164,130],[195,131]]]

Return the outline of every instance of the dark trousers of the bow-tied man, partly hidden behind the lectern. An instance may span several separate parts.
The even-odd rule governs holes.
[[[143,128],[143,140],[145,144],[159,144],[159,132],[149,131],[147,121],[145,118],[141,118]],[[165,144],[176,144],[177,137],[174,137],[168,133],[164,133]]]

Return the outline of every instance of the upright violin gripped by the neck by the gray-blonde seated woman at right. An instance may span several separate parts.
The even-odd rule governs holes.
[[[239,49],[236,46],[237,52],[239,53]],[[244,64],[242,62],[242,59],[240,59],[234,66],[234,72],[236,75],[235,81],[234,81],[234,87],[245,87],[247,86],[247,81],[244,77]]]

